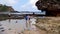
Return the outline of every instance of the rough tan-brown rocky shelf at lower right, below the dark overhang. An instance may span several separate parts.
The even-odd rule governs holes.
[[[36,26],[47,34],[60,34],[60,17],[38,18]]]

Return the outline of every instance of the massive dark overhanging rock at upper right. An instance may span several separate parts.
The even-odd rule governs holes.
[[[46,16],[60,16],[60,0],[38,0],[36,6],[46,11]]]

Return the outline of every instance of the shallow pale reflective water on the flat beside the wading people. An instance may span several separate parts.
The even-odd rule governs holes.
[[[32,18],[30,20],[29,29],[35,30],[36,27],[32,24],[35,23],[36,19]],[[25,19],[7,19],[4,21],[0,21],[0,34],[19,34],[23,32],[26,28],[26,20]]]

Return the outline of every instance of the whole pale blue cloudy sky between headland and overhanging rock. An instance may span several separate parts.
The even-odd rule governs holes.
[[[0,4],[12,6],[16,11],[40,11],[35,6],[38,0],[0,0]]]

